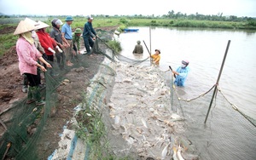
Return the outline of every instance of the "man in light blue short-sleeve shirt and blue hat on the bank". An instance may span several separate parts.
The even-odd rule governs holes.
[[[66,65],[73,66],[71,63],[71,57],[73,55],[73,37],[72,37],[72,28],[71,24],[73,23],[73,18],[71,16],[67,16],[66,23],[61,27],[62,41],[67,43],[67,48],[64,49],[64,53],[66,56]]]

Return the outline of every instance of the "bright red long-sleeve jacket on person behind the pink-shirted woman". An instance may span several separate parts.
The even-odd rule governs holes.
[[[55,40],[51,37],[49,37],[49,34],[44,32],[43,30],[39,30],[37,32],[38,34],[38,38],[39,38],[39,42],[41,43],[42,47],[44,48],[45,54],[47,55],[52,55],[53,53],[50,52],[48,49],[55,49],[56,47],[56,43]]]

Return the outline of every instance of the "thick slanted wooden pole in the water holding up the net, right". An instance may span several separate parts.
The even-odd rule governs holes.
[[[207,118],[208,118],[209,112],[210,112],[211,107],[212,107],[212,101],[213,101],[214,97],[216,96],[216,92],[217,92],[217,88],[218,88],[218,81],[219,81],[219,79],[220,79],[222,70],[223,70],[223,68],[224,68],[224,63],[225,63],[225,60],[226,60],[226,57],[227,57],[229,48],[230,48],[230,40],[229,40],[229,42],[228,42],[228,45],[227,45],[227,48],[226,48],[226,51],[225,51],[225,54],[224,54],[224,58],[223,58],[223,60],[222,60],[222,65],[221,65],[221,67],[220,67],[220,71],[218,72],[218,79],[217,79],[217,82],[216,82],[216,84],[215,84],[215,88],[214,88],[214,91],[213,91],[213,94],[212,94],[212,100],[211,100],[211,102],[210,102],[210,106],[209,106],[209,109],[208,109],[208,111],[207,111],[207,117],[206,117],[206,119],[205,119],[205,123],[207,123]]]

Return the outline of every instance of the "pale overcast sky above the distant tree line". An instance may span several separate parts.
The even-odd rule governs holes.
[[[0,0],[0,13],[36,15],[220,14],[256,17],[256,0]]]

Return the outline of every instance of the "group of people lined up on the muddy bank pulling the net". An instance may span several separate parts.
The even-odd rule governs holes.
[[[20,20],[14,35],[19,36],[16,51],[20,74],[24,77],[22,91],[27,92],[27,104],[36,101],[36,105],[44,105],[45,102],[40,95],[40,85],[42,85],[40,71],[49,70],[51,76],[56,76],[57,73],[52,70],[55,58],[61,70],[65,66],[73,66],[71,62],[73,55],[81,54],[82,33],[87,54],[91,54],[90,48],[93,48],[97,37],[91,25],[92,20],[93,18],[88,16],[84,31],[76,28],[72,32],[73,17],[67,16],[64,25],[61,20],[54,19],[51,21],[52,29],[49,33],[46,31],[49,25],[40,20],[38,22],[28,18]]]

